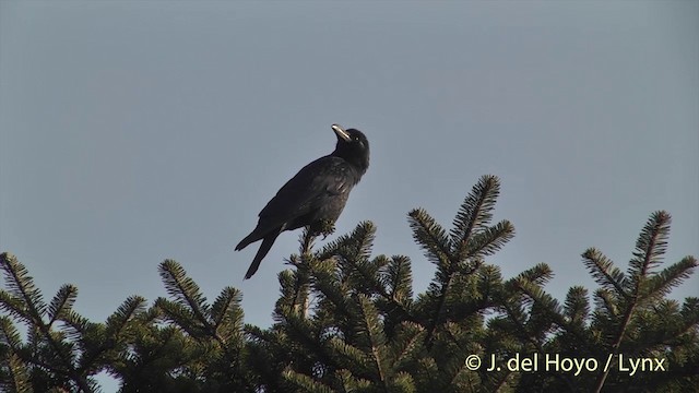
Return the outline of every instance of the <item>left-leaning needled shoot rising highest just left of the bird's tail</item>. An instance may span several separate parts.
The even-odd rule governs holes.
[[[187,276],[187,272],[182,266],[173,260],[165,260],[158,266],[158,271],[167,294],[179,303],[189,306],[194,318],[209,331],[213,331],[211,321],[208,318],[206,298],[201,294],[199,285]]]

